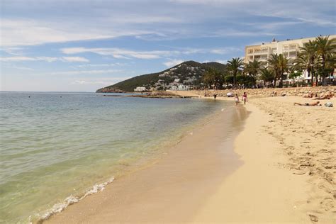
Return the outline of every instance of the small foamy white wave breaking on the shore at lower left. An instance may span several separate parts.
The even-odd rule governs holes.
[[[52,208],[48,209],[47,211],[44,211],[43,213],[38,213],[34,216],[38,218],[38,223],[42,223],[43,220],[47,220],[52,215],[55,215],[56,213],[60,213],[61,211],[65,210],[67,206],[77,203],[91,194],[96,194],[99,191],[103,191],[105,189],[105,186],[111,184],[114,181],[114,179],[115,179],[114,177],[111,177],[110,179],[108,179],[108,181],[105,181],[102,184],[94,184],[94,186],[88,191],[86,191],[85,194],[82,196],[70,195],[67,198],[65,198],[63,202],[56,203],[54,206],[52,206]],[[29,217],[29,222],[33,223],[31,215]]]

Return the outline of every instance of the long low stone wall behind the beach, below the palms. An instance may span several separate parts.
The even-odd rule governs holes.
[[[194,90],[192,91],[194,94],[200,96],[213,96],[217,94],[217,96],[226,96],[228,92],[232,92],[233,94],[238,94],[238,96],[242,96],[244,92],[249,96],[271,96],[276,92],[277,96],[304,96],[305,94],[311,94],[315,96],[323,96],[325,94],[334,94],[336,95],[336,86],[316,86],[316,87],[293,87],[293,88],[276,88],[276,89],[225,89],[225,90]]]

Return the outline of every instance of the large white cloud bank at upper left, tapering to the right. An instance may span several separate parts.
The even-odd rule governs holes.
[[[41,45],[45,43],[62,43],[76,40],[99,40],[116,38],[123,35],[142,35],[148,31],[111,30],[85,27],[77,23],[55,23],[35,20],[1,19],[1,46]],[[74,28],[75,27],[75,28]]]

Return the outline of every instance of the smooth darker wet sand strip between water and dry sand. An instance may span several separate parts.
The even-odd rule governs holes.
[[[242,162],[233,139],[248,113],[225,108],[191,130],[167,155],[116,179],[45,223],[188,223]]]

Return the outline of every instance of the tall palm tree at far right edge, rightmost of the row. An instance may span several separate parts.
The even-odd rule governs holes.
[[[316,38],[315,43],[317,55],[321,57],[322,79],[324,80],[326,75],[325,64],[332,53],[336,51],[336,39],[329,40],[329,35],[327,37],[320,36]]]

